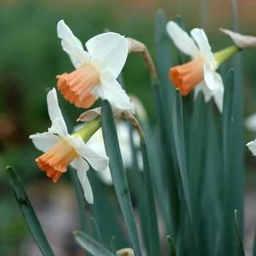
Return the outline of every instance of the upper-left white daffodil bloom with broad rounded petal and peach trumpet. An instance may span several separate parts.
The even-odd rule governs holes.
[[[129,97],[117,82],[128,54],[127,40],[120,34],[99,34],[86,42],[86,50],[69,27],[60,20],[58,37],[69,55],[75,71],[57,75],[58,88],[64,98],[78,108],[89,108],[98,97],[108,99],[110,105],[134,112]]]

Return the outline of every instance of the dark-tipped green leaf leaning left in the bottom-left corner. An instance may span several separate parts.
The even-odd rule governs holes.
[[[26,224],[28,225],[31,234],[34,237],[37,246],[42,252],[42,255],[53,255],[53,251],[50,248],[48,240],[45,237],[45,233],[43,232],[37,216],[34,213],[34,209],[31,206],[29,197],[26,194],[26,190],[23,187],[23,183],[20,180],[18,173],[16,173],[16,171],[10,166],[7,166],[6,171],[7,179],[9,181],[10,187],[12,188],[12,192],[15,195],[18,206],[20,207],[20,211],[22,212],[23,217],[26,220]]]

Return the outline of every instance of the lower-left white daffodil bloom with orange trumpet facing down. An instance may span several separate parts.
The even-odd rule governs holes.
[[[46,171],[48,177],[53,178],[53,182],[57,182],[61,174],[67,171],[68,165],[74,167],[78,171],[86,200],[93,203],[93,194],[86,171],[89,170],[89,164],[94,170],[104,170],[108,166],[109,159],[89,148],[79,132],[73,135],[68,134],[55,89],[49,91],[47,102],[52,126],[48,132],[29,136],[34,146],[45,152],[36,159],[37,165]]]

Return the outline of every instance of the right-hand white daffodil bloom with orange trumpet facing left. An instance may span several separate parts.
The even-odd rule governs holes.
[[[181,52],[191,56],[192,61],[170,69],[170,80],[174,86],[187,96],[195,88],[195,97],[202,90],[206,102],[214,97],[219,111],[222,113],[224,86],[222,78],[216,72],[219,63],[214,59],[211,46],[203,29],[192,29],[189,37],[174,21],[167,23],[167,33],[173,39],[174,45]]]

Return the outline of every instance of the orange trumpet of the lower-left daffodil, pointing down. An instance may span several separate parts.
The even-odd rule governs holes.
[[[60,140],[49,151],[36,159],[40,169],[45,170],[48,177],[57,182],[62,173],[67,171],[67,165],[70,164],[78,153],[75,148],[66,140]]]

